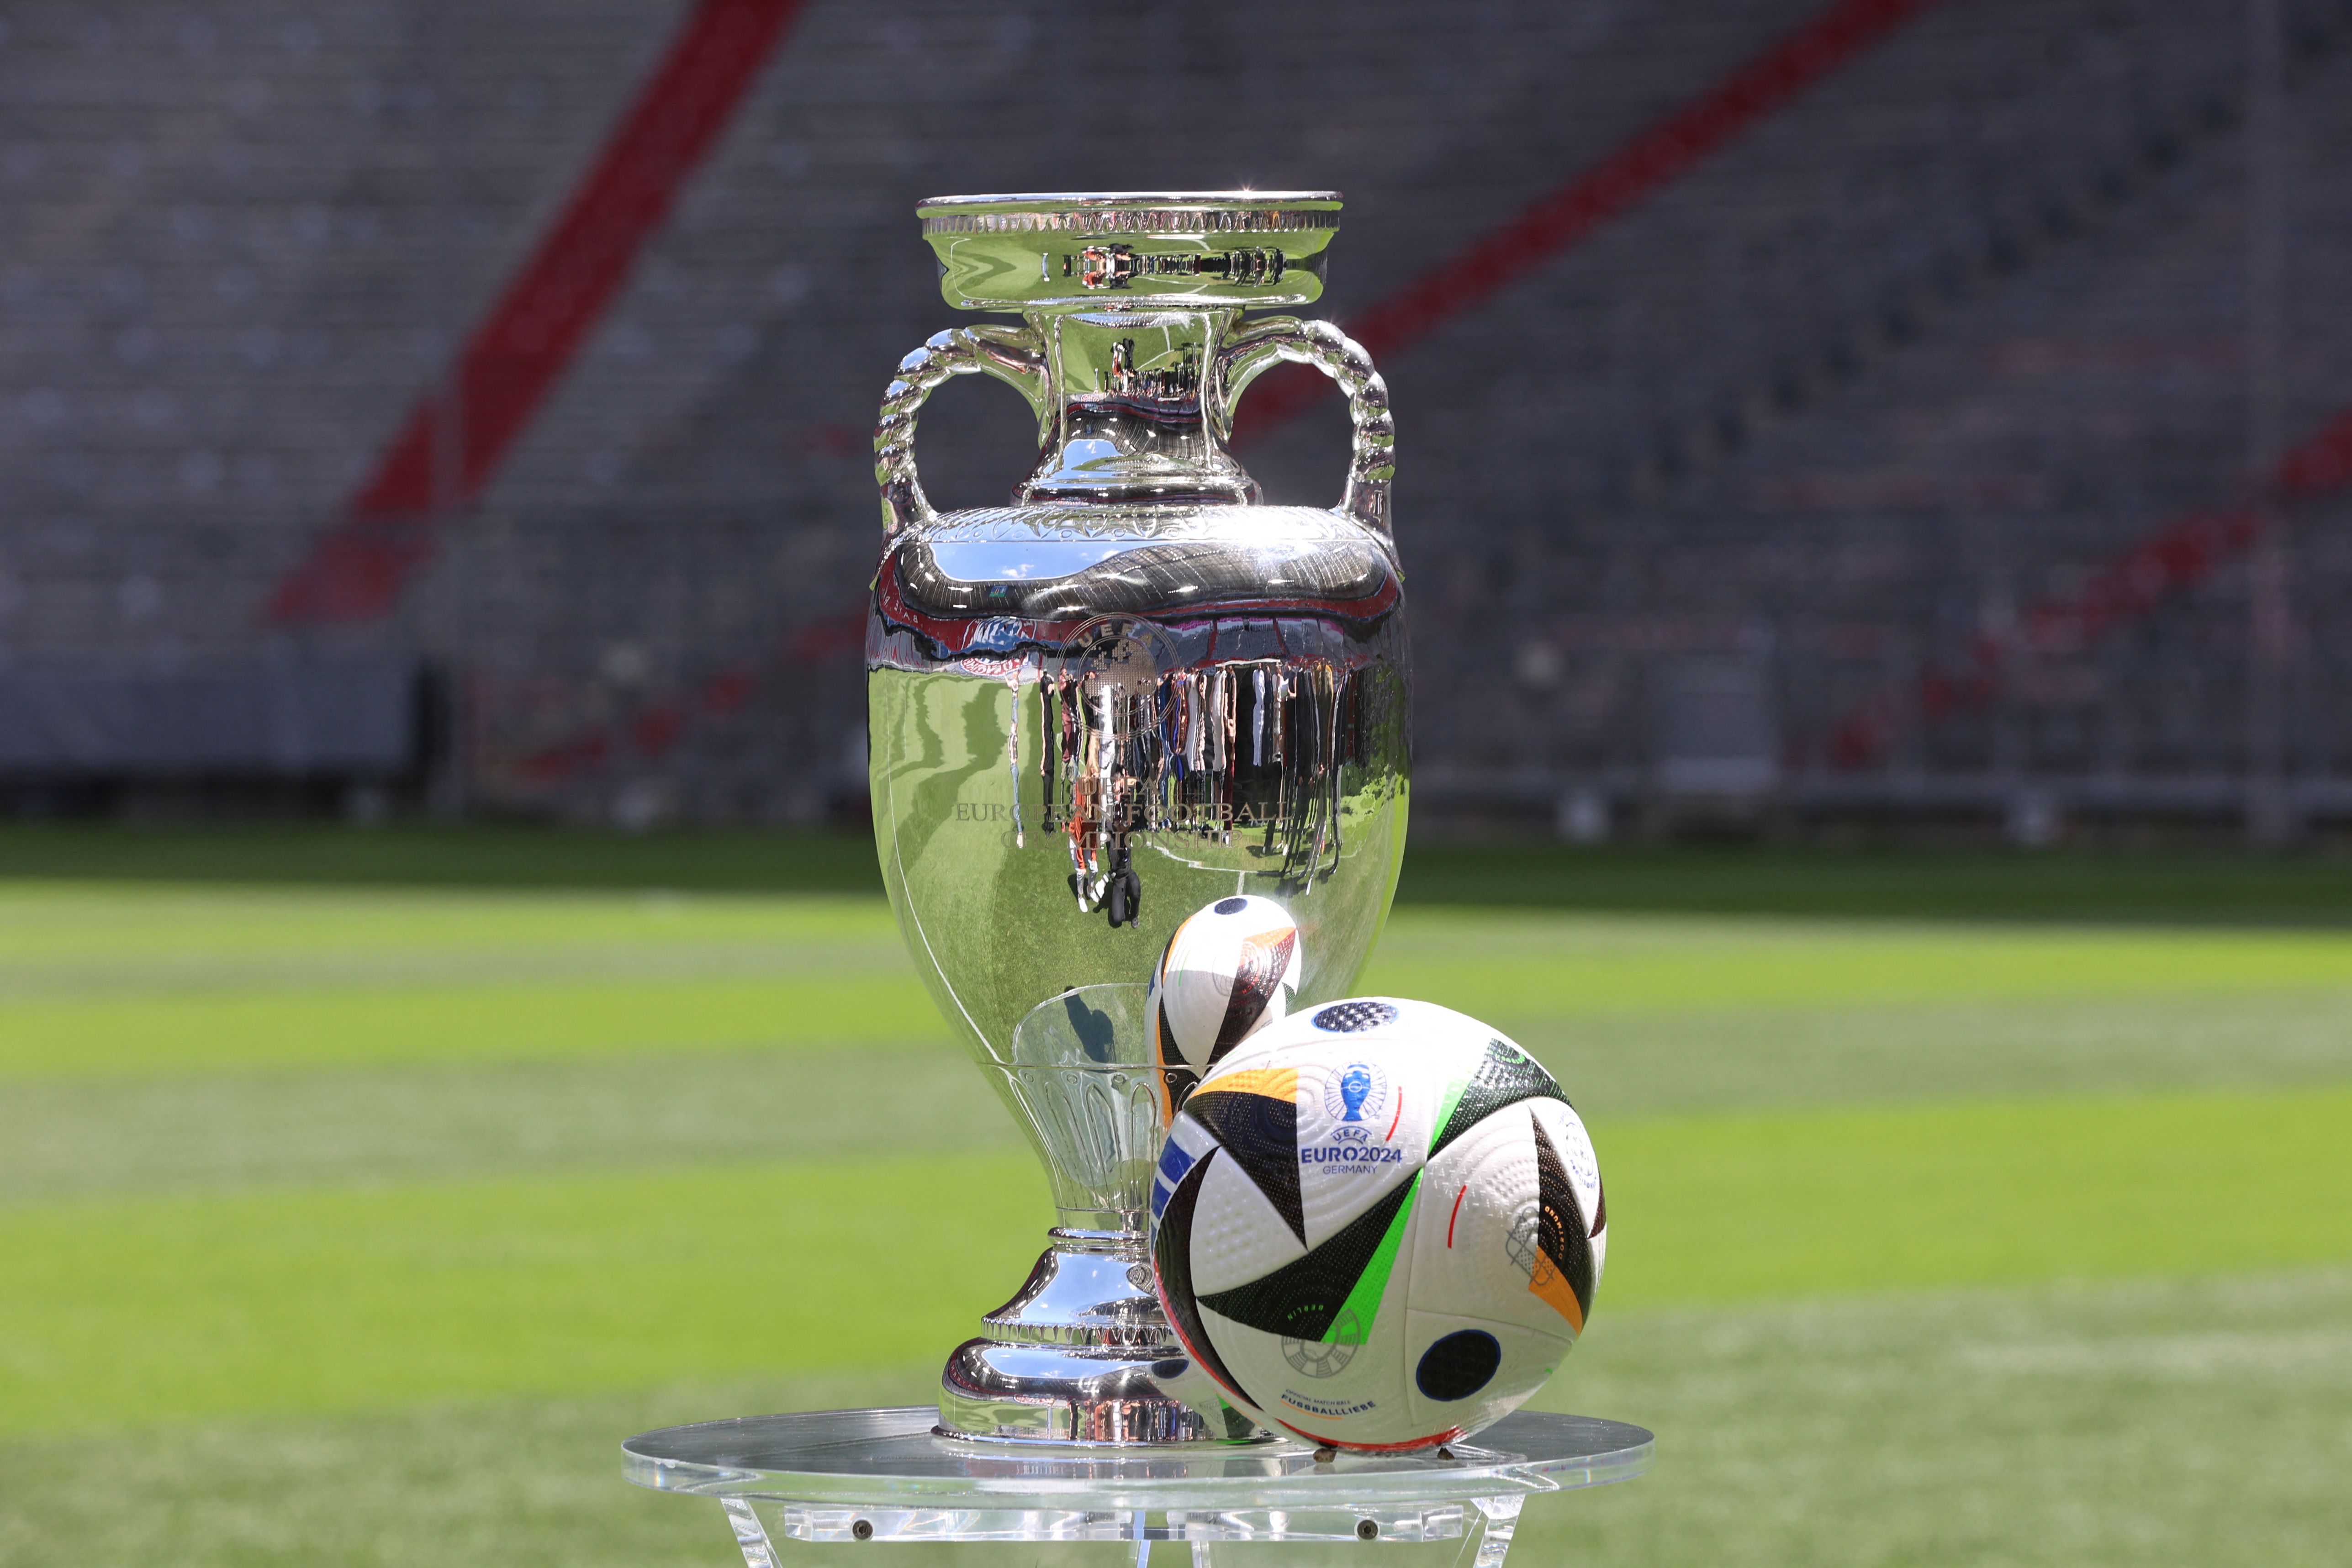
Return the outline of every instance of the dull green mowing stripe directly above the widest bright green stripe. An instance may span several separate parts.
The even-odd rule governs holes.
[[[1496,1020],[1602,1128],[1698,1110],[2270,1091],[2352,1081],[2333,997]],[[14,1079],[0,1206],[1014,1147],[946,1039]],[[873,1093],[889,1084],[887,1095]]]

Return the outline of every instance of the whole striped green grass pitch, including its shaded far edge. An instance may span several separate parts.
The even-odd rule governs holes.
[[[734,1561],[614,1443],[924,1401],[1049,1222],[861,856],[0,832],[0,1563]],[[2345,1561],[2352,867],[1406,896],[1367,990],[1510,1030],[1609,1171],[1541,1399],[1661,1434],[1515,1561]]]

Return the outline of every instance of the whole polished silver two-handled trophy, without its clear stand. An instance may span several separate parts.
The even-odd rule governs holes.
[[[1171,931],[1279,900],[1298,1001],[1348,994],[1404,851],[1409,672],[1388,527],[1392,423],[1364,350],[1244,310],[1322,294],[1334,193],[924,202],[941,292],[1018,327],[936,334],[875,430],[884,545],[868,621],[873,811],[898,929],[1044,1159],[1049,1246],[948,1359],[974,1439],[1247,1439],[1188,1363],[1145,1241],[1162,1107],[1145,1027]],[[1355,423],[1331,510],[1261,505],[1225,449],[1279,360]],[[936,512],[915,414],[983,371],[1037,414],[1014,505]]]

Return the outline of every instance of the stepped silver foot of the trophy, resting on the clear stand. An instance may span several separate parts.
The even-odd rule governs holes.
[[[1049,1234],[1028,1284],[983,1319],[990,1333],[948,1356],[943,1436],[1120,1446],[1268,1436],[1192,1371],[1152,1295],[1143,1237]]]

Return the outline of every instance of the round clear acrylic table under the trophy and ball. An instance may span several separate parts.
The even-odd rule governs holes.
[[[1526,1497],[1630,1481],[1651,1460],[1642,1427],[1524,1410],[1475,1446],[1414,1453],[1002,1443],[936,1425],[917,1406],[666,1427],[621,1443],[623,1474],[717,1497],[748,1568],[800,1556],[781,1542],[1105,1542],[1120,1561],[1108,1542],[1134,1542],[1138,1568],[1152,1542],[1190,1542],[1195,1568],[1268,1561],[1254,1549],[1268,1542],[1397,1542],[1501,1568]]]

